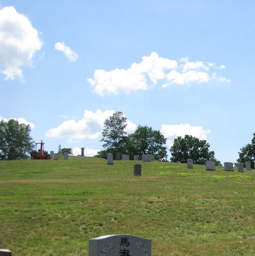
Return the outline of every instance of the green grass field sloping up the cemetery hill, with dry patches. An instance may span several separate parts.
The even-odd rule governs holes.
[[[0,248],[88,255],[88,238],[133,234],[153,256],[255,255],[255,170],[76,158],[0,162]]]

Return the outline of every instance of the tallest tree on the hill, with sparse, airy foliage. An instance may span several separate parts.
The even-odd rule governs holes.
[[[115,112],[112,116],[106,119],[103,123],[104,129],[102,131],[101,141],[105,142],[102,146],[106,151],[113,150],[112,153],[122,153],[125,144],[124,131],[126,127],[126,117],[122,112]]]

